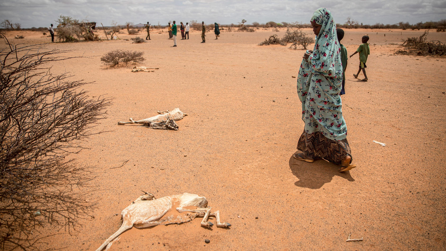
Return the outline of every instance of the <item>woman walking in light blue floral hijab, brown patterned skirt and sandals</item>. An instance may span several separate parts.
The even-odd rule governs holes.
[[[351,170],[351,150],[347,142],[347,126],[342,116],[339,92],[342,84],[341,48],[336,25],[326,8],[319,8],[311,17],[316,41],[313,50],[304,54],[297,93],[302,102],[304,132],[293,157],[306,162],[326,159],[340,164],[339,172]]]

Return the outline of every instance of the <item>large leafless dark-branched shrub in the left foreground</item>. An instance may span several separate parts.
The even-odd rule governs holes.
[[[0,33],[0,36],[4,37]],[[15,46],[0,50],[0,247],[33,249],[39,229],[66,227],[95,205],[91,167],[73,156],[106,114],[110,100],[91,99],[82,81],[52,75],[69,50]],[[88,201],[86,201],[88,199]],[[44,234],[44,233],[41,233]]]

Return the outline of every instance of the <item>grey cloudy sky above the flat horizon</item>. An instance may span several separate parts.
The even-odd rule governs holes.
[[[190,20],[237,24],[252,22],[304,22],[315,9],[325,7],[336,23],[351,17],[359,23],[411,24],[446,19],[445,0],[0,0],[0,21],[8,19],[22,28],[46,27],[60,16],[79,20],[165,25]]]

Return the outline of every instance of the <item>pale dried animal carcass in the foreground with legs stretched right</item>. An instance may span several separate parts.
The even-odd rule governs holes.
[[[144,192],[144,191],[143,191]],[[193,209],[186,207],[194,207]],[[176,208],[179,213],[187,213],[186,215],[166,215],[172,208]],[[172,210],[173,211],[173,210]],[[172,212],[173,213],[173,212]],[[122,225],[112,234],[96,251],[101,251],[104,247],[107,249],[111,243],[122,234],[125,230],[136,228],[145,228],[149,226],[168,225],[182,222],[189,222],[196,217],[203,217],[201,226],[211,227],[214,224],[208,222],[209,216],[214,216],[217,220],[217,226],[229,227],[231,224],[220,222],[220,212],[211,213],[211,207],[207,207],[206,197],[199,197],[196,194],[183,193],[172,196],[165,196],[155,199],[153,194],[145,192],[144,195],[137,198],[131,205],[121,212]],[[110,243],[110,244],[109,244]]]

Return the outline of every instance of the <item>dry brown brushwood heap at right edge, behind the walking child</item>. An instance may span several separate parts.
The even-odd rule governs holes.
[[[409,51],[399,50],[396,53],[401,54],[417,54],[417,55],[446,55],[446,45],[440,41],[427,42],[427,34],[429,31],[425,31],[418,38],[407,38],[403,40],[403,46]]]

